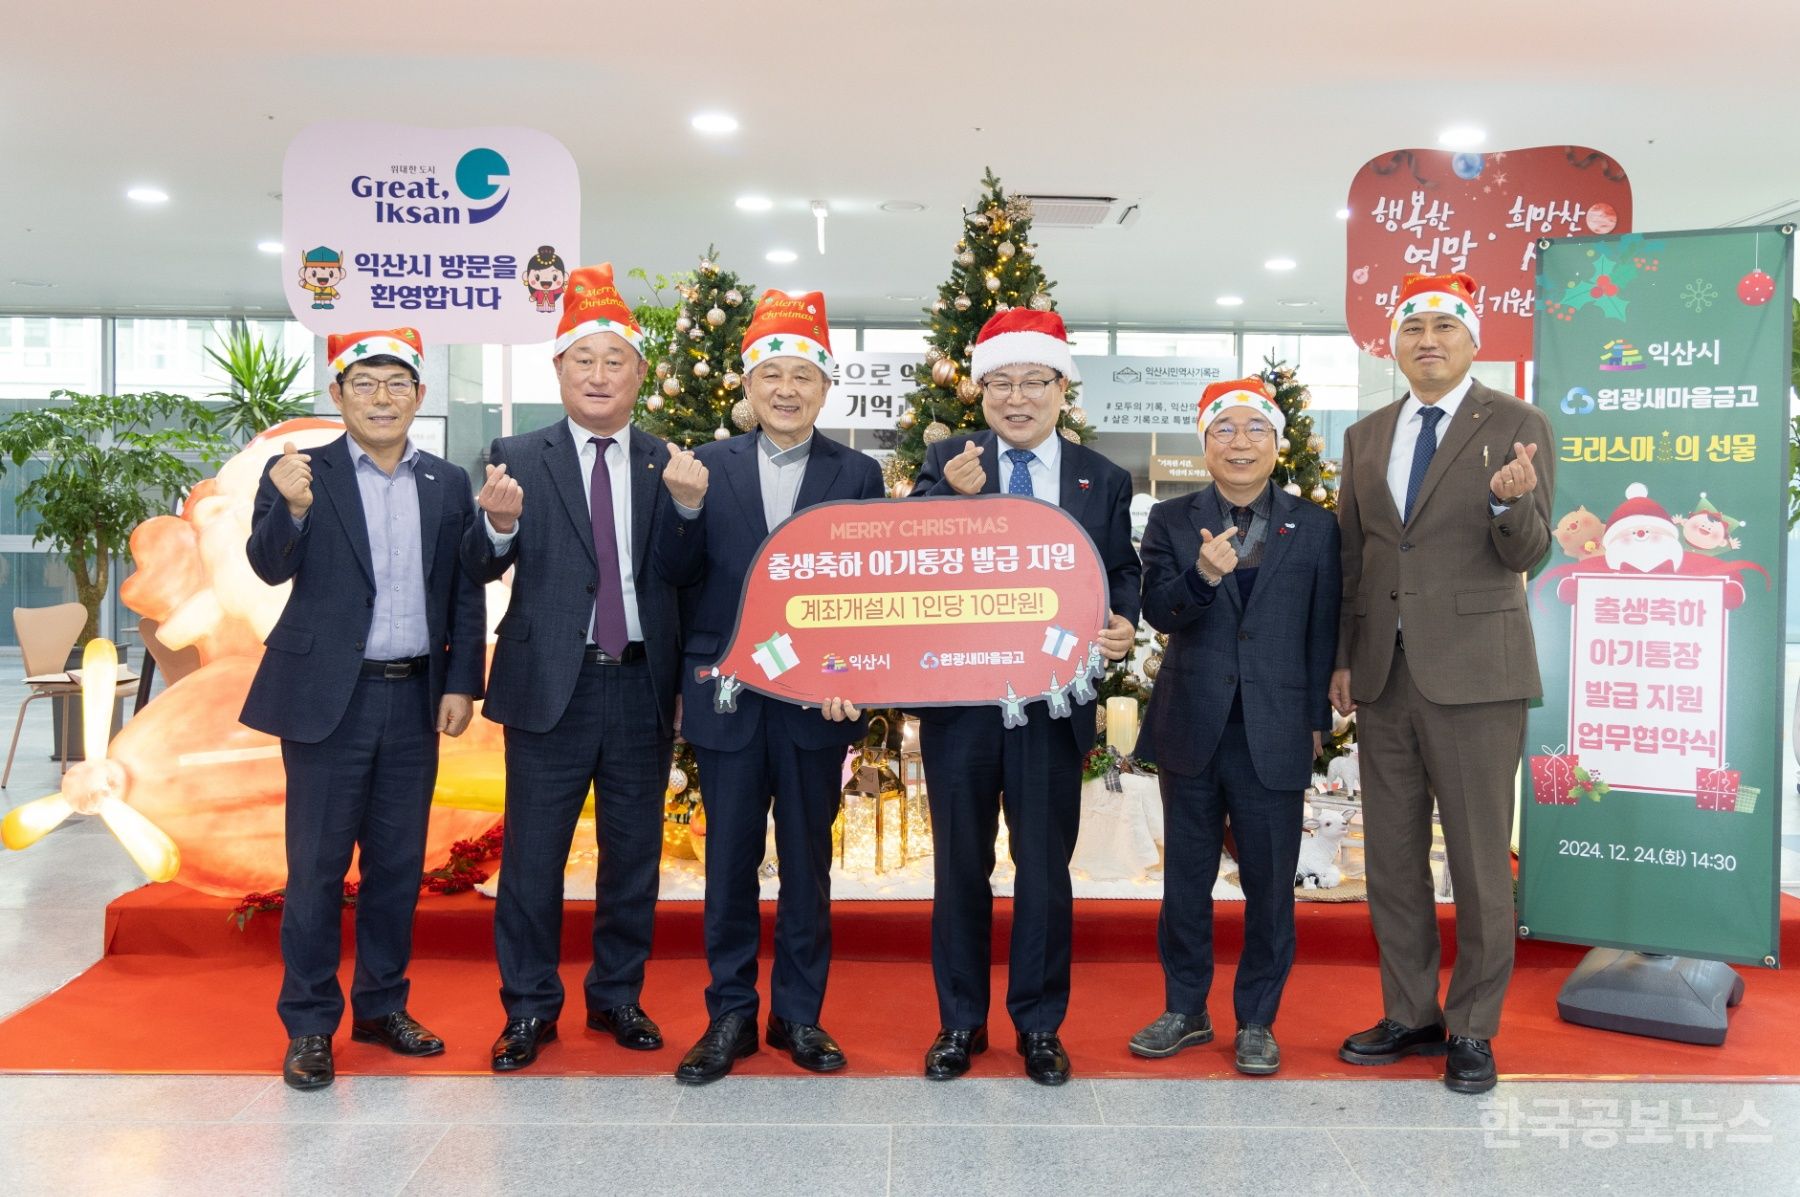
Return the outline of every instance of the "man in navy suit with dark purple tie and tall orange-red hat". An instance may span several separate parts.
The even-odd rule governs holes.
[[[675,589],[650,569],[650,545],[675,506],[661,482],[668,448],[630,423],[646,371],[641,342],[610,265],[569,275],[553,358],[565,419],[493,443],[475,495],[484,518],[463,538],[463,562],[482,581],[513,571],[482,707],[506,725],[493,909],[506,1026],[491,1060],[502,1073],[529,1066],[556,1039],[563,868],[589,787],[599,873],[587,1026],[634,1051],[662,1046],[639,994],[680,628]]]

